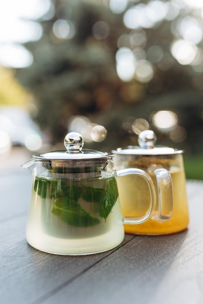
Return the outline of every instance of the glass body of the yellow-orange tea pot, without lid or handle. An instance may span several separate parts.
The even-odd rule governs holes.
[[[156,191],[156,203],[153,215],[144,223],[138,225],[125,224],[125,232],[144,235],[171,234],[184,230],[189,222],[187,195],[185,186],[185,171],[182,154],[143,156],[143,155],[115,155],[116,170],[125,168],[143,169],[151,176]],[[155,169],[165,168],[171,175],[173,188],[173,211],[167,221],[157,221],[158,186],[154,174]],[[117,178],[117,185],[124,216],[131,216],[137,212],[140,216],[149,200],[149,190],[146,181],[136,175]],[[164,192],[162,200],[165,200]]]

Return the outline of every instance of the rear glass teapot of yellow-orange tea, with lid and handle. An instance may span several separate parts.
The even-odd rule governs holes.
[[[189,221],[183,151],[156,146],[156,135],[146,130],[138,136],[138,146],[112,151],[116,170],[138,168],[152,178],[156,190],[156,203],[152,216],[139,225],[125,224],[132,234],[163,235],[184,230]],[[117,179],[121,210],[129,217],[133,209],[142,214],[149,199],[144,179],[123,176]],[[140,195],[142,193],[142,195]]]

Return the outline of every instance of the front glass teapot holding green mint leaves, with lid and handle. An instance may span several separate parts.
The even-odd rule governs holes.
[[[78,133],[66,150],[35,154],[22,165],[33,173],[26,238],[38,250],[68,255],[99,253],[118,246],[124,223],[139,224],[154,211],[155,189],[141,169],[115,171],[113,155],[83,149]],[[149,200],[142,215],[123,217],[116,177],[142,175]]]

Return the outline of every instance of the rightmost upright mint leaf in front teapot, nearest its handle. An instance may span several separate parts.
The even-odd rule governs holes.
[[[107,220],[115,202],[118,198],[118,188],[115,178],[109,180],[109,186],[106,191],[105,200],[102,202],[101,207],[99,208],[99,215],[101,218]]]

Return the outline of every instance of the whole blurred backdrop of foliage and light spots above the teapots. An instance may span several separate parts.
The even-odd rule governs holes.
[[[151,129],[157,144],[185,150],[187,178],[203,179],[203,1],[31,2],[19,17],[27,38],[0,50],[12,71],[0,105],[13,92],[29,111],[42,138],[31,150],[76,131],[86,148],[111,151]]]

